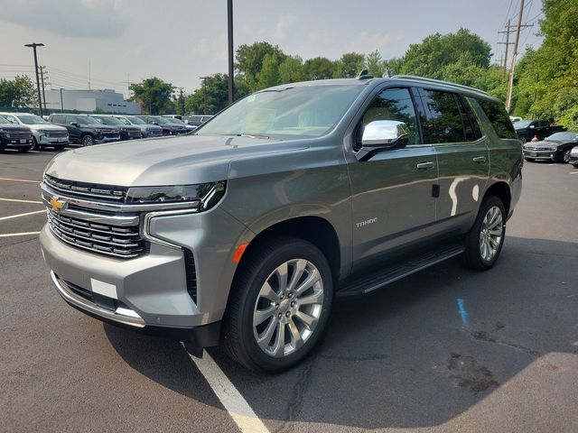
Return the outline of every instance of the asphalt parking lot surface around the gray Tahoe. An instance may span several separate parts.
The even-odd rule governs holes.
[[[54,154],[0,154],[1,430],[578,431],[572,166],[526,163],[493,270],[449,261],[340,301],[311,357],[257,375],[218,348],[196,362],[178,342],[60,299],[37,238],[38,182]]]

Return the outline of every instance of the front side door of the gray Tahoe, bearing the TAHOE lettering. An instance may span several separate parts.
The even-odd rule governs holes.
[[[360,263],[383,260],[398,246],[417,244],[435,221],[435,149],[421,141],[410,90],[387,88],[373,99],[359,122],[358,143],[374,120],[404,122],[411,136],[404,149],[350,163],[354,271]]]

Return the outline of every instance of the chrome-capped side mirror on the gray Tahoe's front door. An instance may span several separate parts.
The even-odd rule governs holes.
[[[409,142],[409,128],[396,120],[374,120],[365,126],[361,148],[355,154],[358,161],[367,160],[378,151],[403,149]]]

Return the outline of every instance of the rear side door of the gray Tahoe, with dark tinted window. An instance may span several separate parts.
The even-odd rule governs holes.
[[[437,232],[469,230],[489,176],[487,138],[469,103],[456,93],[419,88],[424,143],[437,153]]]

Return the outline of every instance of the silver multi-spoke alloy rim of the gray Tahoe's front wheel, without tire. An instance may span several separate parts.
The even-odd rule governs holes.
[[[323,281],[317,267],[304,259],[280,264],[256,298],[253,334],[257,345],[273,357],[293,354],[312,336],[322,307]]]

